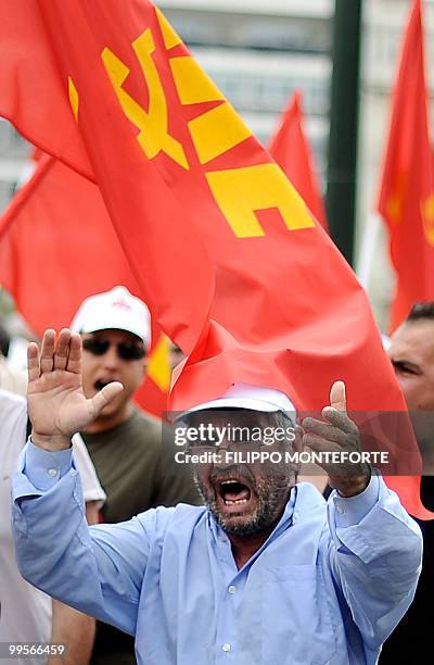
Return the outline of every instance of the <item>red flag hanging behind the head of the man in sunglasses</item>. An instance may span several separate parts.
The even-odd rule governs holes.
[[[135,294],[139,288],[99,188],[40,151],[37,162],[0,218],[0,284],[42,335],[67,326],[92,293],[118,284]],[[153,326],[146,378],[136,400],[159,417],[167,410],[168,356],[166,338]]]

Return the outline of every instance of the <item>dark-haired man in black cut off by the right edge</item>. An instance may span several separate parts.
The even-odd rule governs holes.
[[[410,411],[421,451],[421,500],[434,511],[434,302],[416,304],[394,332],[388,355]],[[434,589],[434,522],[419,522],[423,536],[422,573],[414,601],[383,648],[381,665],[396,665],[411,654],[432,652],[432,598]],[[418,662],[427,663],[421,655]]]

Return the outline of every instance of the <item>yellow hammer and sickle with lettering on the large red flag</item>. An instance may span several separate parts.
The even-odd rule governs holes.
[[[164,57],[167,58],[181,106],[194,108],[203,102],[217,104],[187,122],[187,129],[199,162],[204,167],[209,193],[233,235],[237,238],[264,237],[266,231],[259,223],[257,211],[269,209],[280,212],[288,230],[315,227],[306,205],[277,164],[265,161],[252,166],[237,160],[232,167],[222,171],[208,165],[247,140],[252,131],[191,55],[171,52],[182,41],[158,10],[156,17],[165,47]],[[157,28],[148,27],[131,42],[131,57],[139,63],[143,83],[148,87],[148,109],[143,109],[125,87],[132,61],[128,64],[123,62],[108,47],[103,49],[101,59],[125,116],[138,129],[137,140],[144,155],[152,160],[165,153],[178,166],[189,171],[184,146],[169,130],[171,109],[166,98],[164,77],[157,66],[154,29]],[[71,77],[68,93],[74,116],[78,121],[79,95]]]

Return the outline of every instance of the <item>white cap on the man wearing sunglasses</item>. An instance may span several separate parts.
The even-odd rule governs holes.
[[[71,324],[73,332],[126,330],[151,346],[151,316],[144,302],[123,286],[82,301]]]

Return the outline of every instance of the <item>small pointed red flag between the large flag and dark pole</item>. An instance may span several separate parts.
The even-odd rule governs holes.
[[[286,174],[314,217],[328,231],[324,203],[303,126],[302,95],[296,91],[271,138],[268,152]]]

